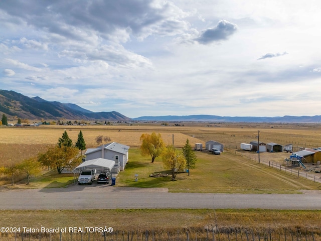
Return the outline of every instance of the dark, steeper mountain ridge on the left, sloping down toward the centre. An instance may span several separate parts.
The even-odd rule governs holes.
[[[0,113],[8,117],[28,119],[103,119],[108,121],[130,121],[130,118],[116,112],[92,112],[76,104],[47,101],[40,97],[30,98],[15,91],[0,90]]]

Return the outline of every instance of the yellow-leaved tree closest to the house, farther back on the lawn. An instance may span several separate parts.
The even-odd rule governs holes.
[[[165,148],[164,141],[160,133],[142,134],[139,139],[142,144],[140,146],[140,154],[145,156],[151,156],[151,162],[153,163],[155,158],[160,156]]]

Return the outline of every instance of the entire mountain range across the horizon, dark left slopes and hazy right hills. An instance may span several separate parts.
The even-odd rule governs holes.
[[[0,90],[0,114],[28,119],[72,119],[108,121],[159,121],[159,122],[260,122],[260,123],[320,123],[321,115],[314,116],[219,116],[219,115],[164,115],[129,118],[117,111],[93,112],[76,104],[47,101],[40,97],[28,97],[12,90]]]

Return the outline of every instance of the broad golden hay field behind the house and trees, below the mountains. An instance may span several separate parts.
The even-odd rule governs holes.
[[[50,145],[55,145],[64,131],[67,131],[73,143],[77,141],[81,130],[87,148],[97,146],[95,138],[108,136],[111,141],[139,147],[139,138],[143,133],[161,133],[164,142],[176,147],[183,147],[186,139],[194,143],[205,143],[214,140],[222,143],[226,150],[237,150],[240,143],[257,140],[275,142],[280,145],[293,144],[294,151],[301,147],[321,147],[321,125],[317,124],[238,124],[238,123],[184,123],[184,126],[161,126],[158,124],[133,124],[117,126],[54,126],[41,127],[0,127],[0,165],[8,160],[19,162],[28,157],[45,152]]]

